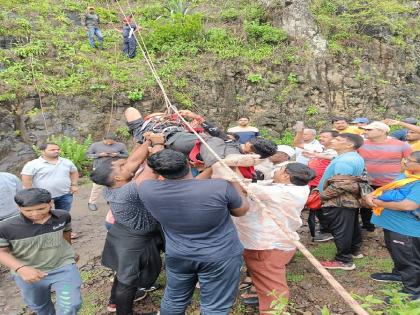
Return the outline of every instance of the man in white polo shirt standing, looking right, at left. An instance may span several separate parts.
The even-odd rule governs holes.
[[[60,157],[60,147],[57,144],[43,144],[39,149],[41,156],[26,163],[22,169],[23,187],[48,190],[54,208],[69,212],[73,194],[79,190],[79,172],[72,161]]]

